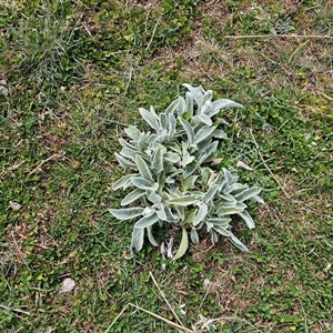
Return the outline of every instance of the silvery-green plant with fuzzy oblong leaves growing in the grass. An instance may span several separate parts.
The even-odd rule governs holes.
[[[139,109],[150,130],[130,125],[127,138],[119,140],[122,149],[115,153],[125,175],[113,190],[129,190],[121,209],[110,209],[119,220],[134,221],[130,248],[140,251],[144,235],[154,246],[153,230],[172,224],[181,233],[181,243],[173,260],[182,256],[189,239],[198,244],[199,231],[205,230],[212,240],[228,238],[240,250],[246,246],[232,233],[231,220],[240,216],[249,229],[254,222],[246,211],[249,200],[262,203],[261,189],[238,182],[235,170],[212,169],[220,140],[228,140],[214,117],[224,108],[242,108],[231,100],[212,101],[212,91],[202,87],[188,88],[185,98],[179,97],[164,112],[157,114]],[[125,208],[128,206],[128,208]]]

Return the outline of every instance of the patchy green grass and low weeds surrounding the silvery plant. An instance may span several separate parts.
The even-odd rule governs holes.
[[[0,1],[2,332],[333,332],[330,4]],[[108,208],[122,129],[182,82],[245,105],[218,154],[266,203],[235,224],[250,253],[206,240],[162,270],[151,245],[124,260]]]

